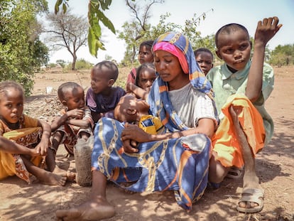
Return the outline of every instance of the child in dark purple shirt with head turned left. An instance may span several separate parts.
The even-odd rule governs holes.
[[[101,117],[114,118],[114,108],[126,94],[121,87],[114,87],[119,69],[111,61],[104,60],[91,70],[91,87],[87,91],[86,105],[91,110],[92,119],[97,123]]]

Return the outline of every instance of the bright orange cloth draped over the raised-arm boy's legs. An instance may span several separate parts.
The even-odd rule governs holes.
[[[217,153],[215,158],[223,166],[241,168],[241,166],[244,166],[244,161],[241,154],[241,146],[234,135],[233,122],[229,114],[229,107],[231,105],[243,107],[238,118],[254,157],[258,151],[263,149],[266,132],[261,114],[259,114],[258,110],[245,95],[232,95],[227,99],[226,104],[222,107],[225,117],[212,137],[213,151]]]

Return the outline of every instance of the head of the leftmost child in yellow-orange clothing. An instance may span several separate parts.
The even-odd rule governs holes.
[[[8,80],[0,82],[0,117],[15,124],[23,114],[24,92],[17,82]]]

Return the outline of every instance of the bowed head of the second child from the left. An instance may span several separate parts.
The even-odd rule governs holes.
[[[58,98],[68,110],[85,107],[84,89],[76,82],[65,82],[60,85],[58,87]]]

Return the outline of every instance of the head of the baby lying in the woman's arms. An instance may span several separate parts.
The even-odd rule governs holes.
[[[143,115],[148,115],[149,105],[143,99],[126,94],[114,109],[114,118],[119,122],[138,122]]]

